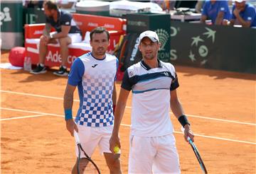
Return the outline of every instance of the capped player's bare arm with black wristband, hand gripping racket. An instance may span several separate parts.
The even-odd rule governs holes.
[[[184,115],[184,111],[182,108],[182,105],[180,101],[178,100],[177,91],[171,91],[171,111],[174,112],[175,117],[178,119],[179,117],[182,117]],[[188,141],[188,137],[191,138],[193,141],[193,132],[190,129],[190,125],[186,124],[184,126],[184,139],[185,141]]]

